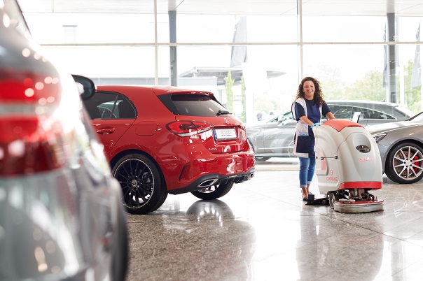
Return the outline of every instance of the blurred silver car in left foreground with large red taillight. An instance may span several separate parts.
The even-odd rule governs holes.
[[[15,0],[0,18],[0,280],[125,280],[122,193],[78,87]]]

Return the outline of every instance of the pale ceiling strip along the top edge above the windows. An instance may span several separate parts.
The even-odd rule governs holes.
[[[24,13],[154,13],[153,0],[18,0]],[[157,0],[158,13],[296,15],[296,0]],[[423,0],[303,0],[303,15],[423,16]]]

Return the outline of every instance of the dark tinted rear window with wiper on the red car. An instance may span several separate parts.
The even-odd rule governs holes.
[[[227,109],[214,96],[202,94],[164,94],[160,101],[175,115],[217,116]],[[231,113],[228,113],[231,114]]]

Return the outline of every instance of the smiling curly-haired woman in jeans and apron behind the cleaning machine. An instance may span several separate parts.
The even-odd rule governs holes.
[[[310,182],[314,175],[316,159],[314,158],[314,134],[312,128],[319,126],[321,116],[335,119],[331,109],[324,101],[320,82],[312,77],[304,78],[292,104],[292,115],[297,120],[294,136],[293,155],[300,160],[300,188],[303,201],[310,194]]]

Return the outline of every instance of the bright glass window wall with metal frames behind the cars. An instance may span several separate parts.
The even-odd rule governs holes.
[[[271,116],[289,110],[300,80],[312,75],[328,100],[394,101],[422,110],[423,10],[412,3],[19,3],[47,57],[97,85],[203,89],[244,121],[256,122],[259,111]]]

